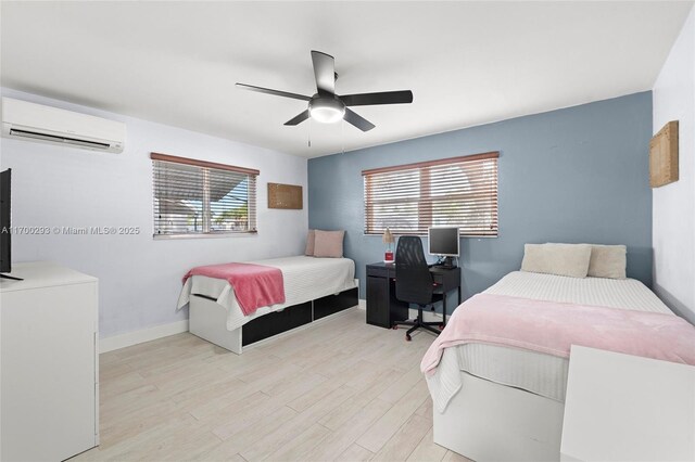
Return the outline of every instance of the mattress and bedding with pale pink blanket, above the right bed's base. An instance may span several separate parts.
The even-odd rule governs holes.
[[[571,345],[695,364],[695,328],[641,282],[516,271],[456,309],[421,370],[440,412],[462,371],[563,402]]]

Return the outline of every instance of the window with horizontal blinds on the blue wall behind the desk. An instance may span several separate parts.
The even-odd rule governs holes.
[[[364,170],[365,234],[382,234],[387,227],[400,234],[427,234],[429,227],[456,226],[462,235],[496,236],[498,156]]]

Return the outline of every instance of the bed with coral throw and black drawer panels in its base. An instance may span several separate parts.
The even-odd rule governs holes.
[[[257,339],[357,305],[355,264],[349,258],[226,262],[181,275],[177,307],[189,306],[190,332],[237,354]]]

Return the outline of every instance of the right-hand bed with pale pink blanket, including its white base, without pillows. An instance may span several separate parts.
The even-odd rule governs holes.
[[[572,344],[695,363],[695,328],[641,282],[515,271],[458,307],[422,359],[434,441],[558,460]]]

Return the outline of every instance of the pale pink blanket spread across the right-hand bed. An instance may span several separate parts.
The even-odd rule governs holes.
[[[444,348],[467,343],[561,358],[581,345],[695,365],[695,326],[673,315],[478,294],[454,311],[420,370],[433,374]]]

